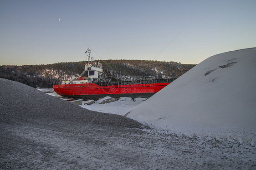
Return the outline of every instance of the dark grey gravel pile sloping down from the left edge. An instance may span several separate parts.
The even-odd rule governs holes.
[[[35,118],[91,123],[102,126],[142,128],[128,117],[90,111],[25,84],[0,78],[0,122]]]

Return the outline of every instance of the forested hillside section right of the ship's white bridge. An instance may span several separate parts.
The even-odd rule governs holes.
[[[151,60],[100,60],[99,62],[103,64],[103,72],[117,78],[123,76],[177,78],[195,66]]]

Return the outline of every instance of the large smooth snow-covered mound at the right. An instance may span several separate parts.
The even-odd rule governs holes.
[[[214,55],[134,107],[135,120],[178,131],[256,134],[256,48]]]

